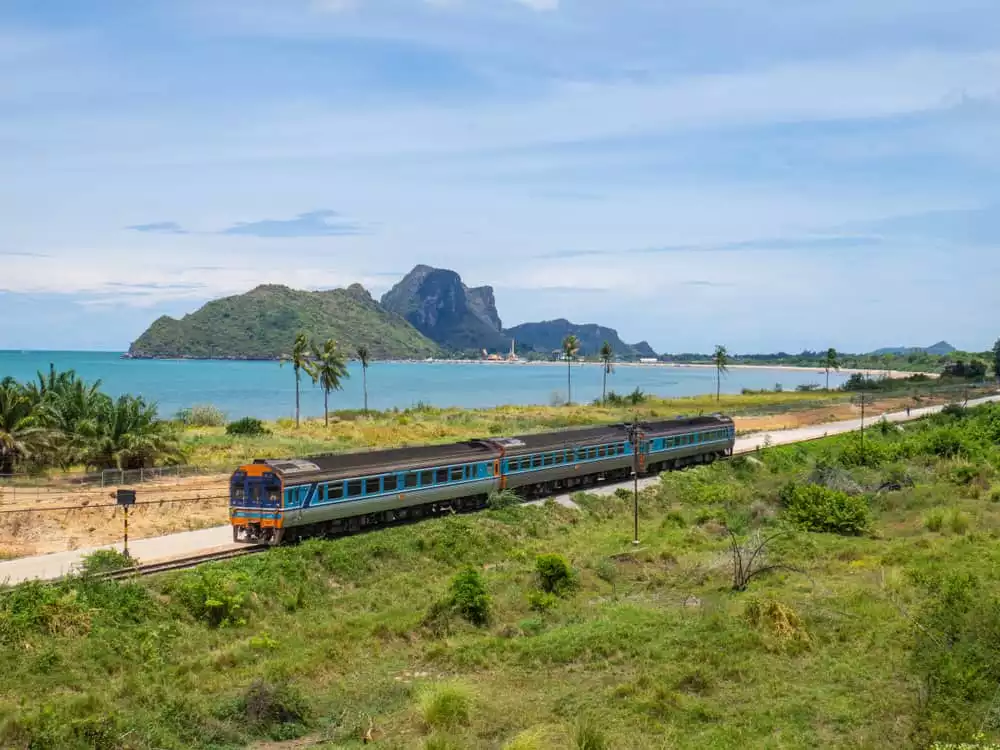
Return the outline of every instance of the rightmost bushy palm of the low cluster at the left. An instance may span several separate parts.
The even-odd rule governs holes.
[[[99,469],[141,469],[182,455],[170,425],[157,417],[156,405],[141,396],[106,399],[97,419],[83,429],[82,460]]]

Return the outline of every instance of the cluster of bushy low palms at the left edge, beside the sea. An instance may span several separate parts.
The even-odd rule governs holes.
[[[72,370],[0,381],[0,475],[50,467],[138,469],[181,458],[173,427],[142,397],[112,399]],[[186,416],[191,416],[189,412]]]

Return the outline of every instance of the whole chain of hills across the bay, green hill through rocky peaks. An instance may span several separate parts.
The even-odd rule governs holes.
[[[480,358],[513,346],[526,359],[549,359],[576,335],[580,356],[607,341],[621,359],[655,358],[646,342],[630,345],[613,328],[566,319],[505,330],[493,288],[469,288],[454,271],[418,265],[376,301],[360,284],[308,292],[263,285],[214,300],[180,320],[163,316],[137,338],[131,359],[275,360],[299,332],[335,339],[351,353],[360,345],[375,359]]]

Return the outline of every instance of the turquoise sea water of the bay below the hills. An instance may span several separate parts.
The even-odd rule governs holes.
[[[229,418],[290,417],[295,413],[295,379],[290,367],[276,362],[217,362],[198,360],[129,360],[110,352],[0,351],[0,379],[35,377],[38,370],[76,370],[87,380],[101,379],[111,395],[133,393],[157,402],[160,413],[172,416],[195,404],[214,404]],[[361,368],[349,366],[344,390],[330,394],[330,409],[362,406]],[[845,376],[830,374],[830,385]],[[722,380],[724,393],[743,388],[786,390],[805,383],[823,384],[817,370],[732,369]],[[608,377],[608,390],[628,393],[635,388],[658,396],[693,396],[715,392],[715,371],[701,367],[618,366]],[[573,400],[592,401],[601,395],[600,365],[573,366]],[[373,409],[406,408],[417,402],[435,406],[497,406],[549,404],[566,398],[566,366],[507,365],[454,362],[375,362],[368,368],[368,403]],[[323,393],[303,375],[302,412],[323,413]]]

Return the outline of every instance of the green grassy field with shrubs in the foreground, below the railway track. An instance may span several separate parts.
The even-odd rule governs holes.
[[[0,595],[0,745],[995,741],[998,442],[1000,408],[951,409],[863,450],[670,473],[642,493],[638,548],[627,492],[500,497],[133,583],[24,586]],[[734,590],[728,530],[771,539],[754,563],[780,567]]]

